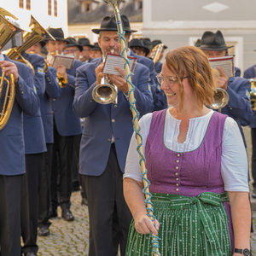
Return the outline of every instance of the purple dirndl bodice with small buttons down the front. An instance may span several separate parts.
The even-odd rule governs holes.
[[[150,191],[188,196],[223,193],[221,144],[227,116],[213,113],[201,145],[193,151],[174,152],[164,144],[166,111],[153,113],[146,143]]]

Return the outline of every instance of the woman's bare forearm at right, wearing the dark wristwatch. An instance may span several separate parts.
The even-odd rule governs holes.
[[[228,192],[234,230],[235,248],[250,249],[251,207],[247,192]],[[234,256],[241,255],[234,253]]]

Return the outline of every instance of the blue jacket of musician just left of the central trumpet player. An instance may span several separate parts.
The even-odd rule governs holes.
[[[73,67],[71,69],[67,69],[67,86],[61,88],[61,95],[52,101],[57,131],[63,137],[82,133],[81,121],[79,117],[73,113],[72,108],[76,70],[81,65],[81,61],[75,60]],[[53,75],[56,78],[56,70],[54,70]]]

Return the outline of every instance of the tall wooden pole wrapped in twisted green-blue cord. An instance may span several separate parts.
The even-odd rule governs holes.
[[[122,20],[121,20],[121,15],[119,12],[119,4],[122,2],[122,0],[104,0],[104,2],[109,3],[112,5],[113,10],[114,10],[114,15],[117,23],[117,28],[118,28],[118,34],[119,34],[119,43],[121,44],[121,55],[124,58],[124,67],[125,67],[125,79],[128,84],[129,88],[129,102],[131,105],[131,112],[132,112],[132,122],[133,122],[133,128],[134,131],[136,132],[136,138],[137,138],[137,152],[140,155],[140,166],[141,166],[141,171],[142,171],[142,177],[143,177],[143,192],[145,194],[145,202],[147,205],[147,212],[148,212],[148,217],[151,218],[151,220],[154,222],[154,209],[153,205],[151,202],[151,194],[149,193],[149,181],[147,178],[147,170],[145,166],[145,156],[143,154],[143,140],[142,137],[139,133],[140,127],[138,125],[138,119],[139,119],[139,113],[137,112],[136,108],[136,100],[134,98],[134,85],[131,83],[131,71],[130,71],[130,66],[129,66],[129,61],[127,59],[127,54],[126,54],[126,44],[125,44],[125,32],[123,31],[123,26],[122,26]],[[154,256],[160,256],[159,253],[159,242],[158,242],[158,236],[154,236],[154,234],[151,233],[152,237],[152,244],[153,244],[153,252],[152,254]]]

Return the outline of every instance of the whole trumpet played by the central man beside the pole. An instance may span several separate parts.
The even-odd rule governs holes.
[[[113,49],[111,52],[113,53]],[[102,58],[105,61],[104,55],[102,55]],[[96,85],[92,90],[92,98],[100,104],[113,103],[116,108],[118,103],[118,87],[104,76],[101,84]]]

